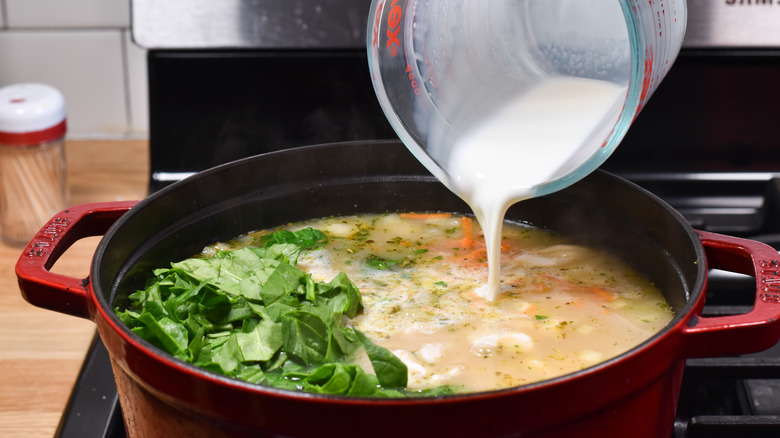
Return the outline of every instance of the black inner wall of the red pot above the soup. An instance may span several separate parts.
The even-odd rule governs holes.
[[[106,233],[92,265],[100,305],[113,309],[153,269],[205,245],[287,222],[354,213],[468,206],[400,143],[352,142],[284,150],[201,172],[140,202]],[[703,288],[703,250],[682,217],[604,172],[513,206],[508,219],[607,248],[647,275],[680,314]]]

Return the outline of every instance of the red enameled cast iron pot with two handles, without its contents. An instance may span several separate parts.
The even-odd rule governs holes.
[[[89,318],[113,365],[130,436],[663,437],[684,360],[768,348],[780,337],[778,254],[693,230],[652,194],[603,172],[512,207],[508,218],[608,248],[648,275],[677,312],[660,333],[600,365],[514,389],[414,400],[299,394],[179,362],[114,316],[153,268],[250,230],[327,215],[470,212],[397,142],[313,146],[216,167],[134,203],[83,205],[53,218],[17,264],[34,305]],[[90,275],[48,271],[74,241],[102,235]],[[757,277],[753,310],[704,318],[707,270]]]

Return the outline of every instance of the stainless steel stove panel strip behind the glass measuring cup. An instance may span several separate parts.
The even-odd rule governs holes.
[[[780,0],[687,3],[684,47],[780,48]],[[133,40],[147,49],[359,48],[365,47],[370,4],[369,0],[132,0]]]

